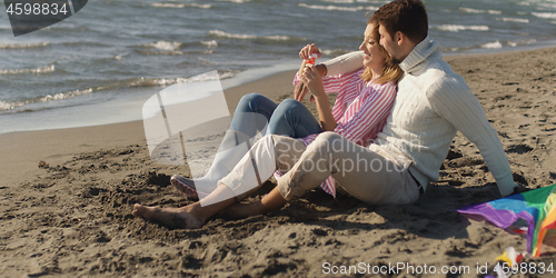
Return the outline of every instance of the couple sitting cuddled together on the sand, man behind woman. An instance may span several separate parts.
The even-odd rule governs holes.
[[[241,99],[207,176],[171,178],[200,201],[181,208],[135,205],[133,216],[199,228],[225,209],[236,217],[265,214],[319,185],[370,205],[413,203],[438,179],[457,130],[480,150],[502,196],[512,193],[516,185],[497,132],[465,80],[441,59],[440,46],[429,40],[424,4],[387,3],[364,34],[363,51],[318,66],[304,62],[295,78],[296,100],[276,105],[255,93]],[[315,51],[310,44],[299,56]],[[299,102],[307,90],[320,123]],[[332,109],[325,92],[339,92]],[[251,147],[257,131],[267,136]],[[259,201],[239,203],[277,170],[284,175],[276,188]]]

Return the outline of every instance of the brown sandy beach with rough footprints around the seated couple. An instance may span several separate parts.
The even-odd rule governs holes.
[[[445,60],[481,102],[515,181],[529,189],[553,185],[556,48]],[[225,91],[230,110],[248,92],[290,97],[292,75]],[[266,216],[217,215],[201,229],[168,229],[131,216],[136,202],[191,202],[169,183],[187,169],[150,160],[140,121],[0,135],[0,149],[1,277],[326,277],[360,264],[438,271],[385,275],[391,277],[481,277],[477,267],[492,269],[506,247],[526,249],[524,237],[455,211],[499,198],[478,149],[460,133],[440,179],[415,205],[374,207],[319,189]],[[247,201],[272,186],[268,181]],[[463,271],[440,274],[443,267]]]

